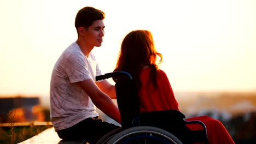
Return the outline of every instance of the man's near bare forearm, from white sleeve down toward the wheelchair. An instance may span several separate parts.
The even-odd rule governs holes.
[[[102,112],[104,112],[110,118],[113,118],[118,123],[121,123],[120,113],[117,105],[114,101],[108,97],[107,94],[101,91],[97,87],[92,79],[78,82],[78,85],[84,89],[84,91],[90,96],[92,102]],[[109,83],[110,85],[110,83]]]

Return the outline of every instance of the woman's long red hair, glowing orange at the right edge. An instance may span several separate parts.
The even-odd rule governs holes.
[[[141,89],[139,75],[144,66],[150,67],[150,81],[157,87],[156,77],[158,75],[158,65],[156,56],[161,53],[155,50],[152,33],[147,30],[132,31],[124,38],[119,52],[118,62],[114,71],[126,71],[131,74],[135,81],[137,92]],[[150,82],[149,81],[149,82]]]

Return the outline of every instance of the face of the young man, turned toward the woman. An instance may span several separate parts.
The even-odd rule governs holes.
[[[104,36],[104,22],[103,20],[96,20],[85,31],[84,40],[88,45],[101,46]]]

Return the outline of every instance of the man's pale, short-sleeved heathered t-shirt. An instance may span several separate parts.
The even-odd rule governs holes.
[[[72,127],[98,113],[88,94],[77,82],[102,75],[95,57],[86,57],[77,43],[72,43],[59,57],[51,74],[51,122],[55,131]]]

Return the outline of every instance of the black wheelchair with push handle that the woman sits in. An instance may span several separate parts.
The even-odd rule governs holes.
[[[185,121],[183,113],[176,110],[139,113],[132,76],[126,71],[114,71],[96,76],[96,81],[110,77],[115,81],[121,128],[110,131],[97,144],[207,143],[205,124]],[[201,129],[191,131],[187,128],[189,124],[199,124]]]

